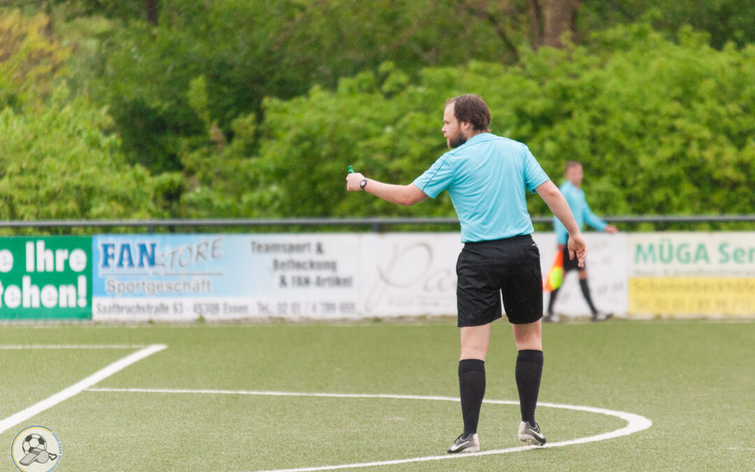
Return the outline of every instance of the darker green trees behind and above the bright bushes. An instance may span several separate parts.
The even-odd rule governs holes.
[[[186,139],[211,146],[207,119],[189,101],[200,76],[214,134],[233,138],[233,121],[260,110],[265,97],[288,99],[313,85],[375,71],[390,61],[408,76],[428,66],[469,60],[516,63],[524,48],[562,45],[615,23],[652,19],[676,34],[684,24],[710,32],[713,45],[755,41],[755,4],[602,2],[596,0],[164,0],[159,21],[146,21],[143,2],[48,0],[66,17],[105,17],[95,52],[82,54],[74,90],[107,104],[130,162],[153,173],[180,171]],[[655,12],[655,13],[654,13]],[[157,25],[157,26],[156,26]],[[576,29],[574,31],[573,29]]]

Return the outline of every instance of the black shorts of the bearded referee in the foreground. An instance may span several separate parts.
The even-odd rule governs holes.
[[[540,251],[532,236],[467,242],[456,263],[458,325],[479,326],[501,318],[501,295],[509,322],[543,317]]]

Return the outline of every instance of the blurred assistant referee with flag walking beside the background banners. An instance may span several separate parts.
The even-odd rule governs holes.
[[[593,211],[590,210],[590,205],[587,205],[587,199],[584,198],[584,190],[580,188],[582,179],[584,178],[582,165],[577,161],[566,162],[565,177],[566,181],[561,185],[561,187],[559,187],[559,190],[561,190],[561,193],[566,199],[566,202],[569,203],[569,208],[572,208],[572,214],[574,214],[574,218],[577,221],[578,226],[582,228],[584,227],[584,224],[587,223],[598,231],[616,233],[618,230],[615,226],[613,226],[612,224],[606,224],[605,221],[602,221],[599,217],[596,217]],[[584,267],[584,264],[581,267],[578,267],[578,265],[575,264],[575,261],[569,260],[566,252],[566,242],[569,239],[569,232],[566,230],[566,227],[561,223],[561,221],[559,221],[556,217],[553,218],[553,230],[556,231],[556,245],[558,246],[557,250],[564,251],[564,275],[566,275],[569,270],[578,270],[579,287],[582,290],[584,300],[587,301],[587,305],[590,307],[593,321],[603,321],[605,319],[608,319],[611,315],[599,312],[599,310],[597,310],[595,304],[593,303],[593,298],[590,296],[590,285],[587,284],[587,267]],[[559,295],[559,289],[560,288],[556,288],[555,290],[553,290],[553,292],[550,292],[550,299],[548,300],[548,312],[545,315],[545,321],[559,321],[559,316],[553,313],[553,306],[554,304],[556,304],[556,298]]]

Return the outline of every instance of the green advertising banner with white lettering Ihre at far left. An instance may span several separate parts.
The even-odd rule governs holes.
[[[90,236],[0,238],[0,319],[91,318]]]

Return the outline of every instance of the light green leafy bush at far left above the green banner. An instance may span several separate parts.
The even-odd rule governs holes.
[[[46,106],[0,112],[0,214],[5,220],[157,215],[149,174],[125,165],[103,110],[64,88]]]

